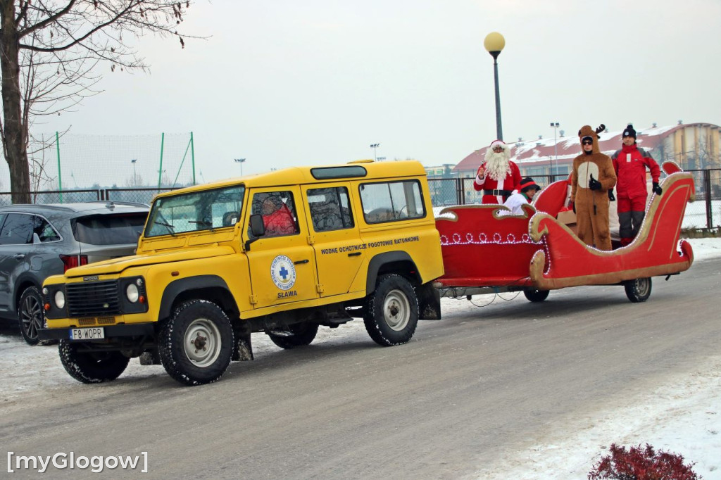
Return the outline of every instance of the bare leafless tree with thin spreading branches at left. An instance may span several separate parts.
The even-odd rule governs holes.
[[[177,31],[190,1],[0,0],[0,136],[13,203],[30,201],[30,126],[98,92],[99,63],[110,70],[148,66],[128,40]],[[42,150],[45,146],[40,146]]]

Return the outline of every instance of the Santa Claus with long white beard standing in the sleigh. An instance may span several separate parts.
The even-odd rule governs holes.
[[[503,204],[514,190],[521,191],[521,170],[510,161],[510,147],[502,140],[493,141],[488,147],[473,187],[477,192],[483,190],[484,204]]]

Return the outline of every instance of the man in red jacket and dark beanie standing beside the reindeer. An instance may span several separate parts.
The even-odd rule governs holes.
[[[622,135],[623,146],[613,155],[618,193],[619,236],[621,246],[630,244],[638,234],[646,213],[646,168],[651,171],[653,192],[661,195],[658,186],[661,169],[650,153],[636,145],[636,130],[628,125]]]

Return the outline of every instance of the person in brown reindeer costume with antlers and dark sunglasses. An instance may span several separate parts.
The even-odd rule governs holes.
[[[583,153],[573,159],[571,174],[570,200],[578,238],[599,250],[611,250],[608,191],[616,185],[614,163],[598,148],[598,133],[605,129],[601,124],[595,131],[589,125],[578,130]]]

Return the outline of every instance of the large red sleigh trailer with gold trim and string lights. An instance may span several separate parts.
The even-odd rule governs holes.
[[[681,240],[686,203],[694,201],[694,180],[672,162],[663,195],[653,195],[632,244],[611,252],[585,245],[557,215],[567,182],[554,182],[536,194],[524,215],[503,215],[499,205],[459,205],[441,210],[445,273],[436,284],[442,295],[522,290],[543,301],[549,290],[578,285],[624,285],[630,301],[645,301],[651,277],[674,275],[691,267],[691,245]],[[614,204],[611,204],[614,208]]]

